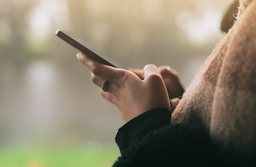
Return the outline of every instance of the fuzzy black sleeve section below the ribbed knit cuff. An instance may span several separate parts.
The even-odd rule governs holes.
[[[166,125],[130,143],[114,167],[225,166],[208,133],[192,125]]]

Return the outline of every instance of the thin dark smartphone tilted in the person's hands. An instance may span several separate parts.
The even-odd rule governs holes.
[[[112,61],[111,58],[101,54],[99,51],[88,45],[86,42],[82,40],[75,39],[73,36],[68,35],[68,33],[63,32],[61,30],[56,31],[56,35],[62,40],[68,42],[68,44],[72,45],[76,49],[82,51],[82,53],[89,56],[93,61],[97,61],[98,63],[102,63],[104,65],[110,65],[112,67],[123,68],[119,63]]]

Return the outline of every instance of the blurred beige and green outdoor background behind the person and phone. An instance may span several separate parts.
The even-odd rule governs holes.
[[[223,37],[232,0],[0,0],[0,166],[111,166],[124,122],[73,33],[125,67],[170,65],[187,87]]]

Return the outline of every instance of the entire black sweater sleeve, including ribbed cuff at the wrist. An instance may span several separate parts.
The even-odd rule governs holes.
[[[113,166],[236,166],[224,161],[209,133],[172,125],[170,118],[169,110],[153,109],[123,125],[116,134],[121,157]]]

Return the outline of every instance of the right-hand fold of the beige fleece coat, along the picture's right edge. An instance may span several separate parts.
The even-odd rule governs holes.
[[[239,157],[256,141],[256,1],[232,28],[232,39],[218,75],[211,115],[211,136]]]

